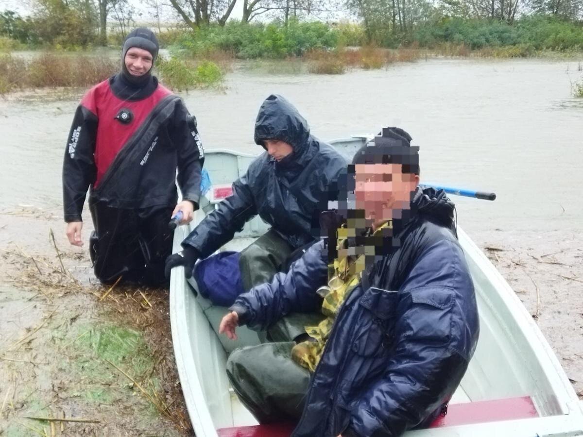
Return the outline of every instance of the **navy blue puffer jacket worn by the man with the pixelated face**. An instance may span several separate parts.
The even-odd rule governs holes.
[[[413,202],[418,212],[400,248],[363,274],[340,307],[294,437],[398,436],[436,417],[459,385],[479,334],[472,278],[445,193],[418,190]],[[233,307],[255,329],[317,311],[326,256],[315,243]]]

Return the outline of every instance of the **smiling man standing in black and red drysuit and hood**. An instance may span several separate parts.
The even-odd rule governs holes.
[[[89,252],[103,283],[120,276],[150,286],[166,283],[168,220],[180,210],[181,224],[188,223],[198,209],[203,149],[196,118],[152,75],[157,54],[152,31],[132,31],[122,48],[121,72],[83,97],[69,133],[63,164],[66,235],[72,245],[83,244],[81,213],[90,188],[95,231]]]

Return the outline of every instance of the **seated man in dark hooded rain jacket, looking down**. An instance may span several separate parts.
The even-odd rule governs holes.
[[[234,182],[233,195],[223,200],[182,242],[184,250],[168,258],[167,274],[172,267],[183,265],[190,277],[197,259],[211,255],[230,241],[246,221],[259,215],[271,225],[271,230],[238,258],[240,269],[236,270],[240,270],[243,292],[270,280],[292,252],[319,235],[314,223],[318,223],[321,202],[328,187],[346,168],[345,158],[310,135],[305,119],[278,95],[266,98],[259,108],[255,143],[266,152]],[[197,272],[203,264],[197,265]],[[236,277],[236,273],[229,272],[228,276]],[[202,280],[197,277],[197,281],[201,286]],[[236,288],[236,284],[222,288]],[[234,297],[227,306],[233,300]]]

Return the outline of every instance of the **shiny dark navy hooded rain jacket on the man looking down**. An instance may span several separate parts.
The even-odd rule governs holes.
[[[234,182],[233,195],[182,242],[194,247],[200,258],[230,241],[257,214],[294,249],[314,239],[312,223],[318,223],[319,202],[345,170],[346,160],[311,136],[305,119],[281,96],[269,96],[259,108],[255,142],[263,146],[266,139],[285,141],[293,153],[279,162],[263,153]]]

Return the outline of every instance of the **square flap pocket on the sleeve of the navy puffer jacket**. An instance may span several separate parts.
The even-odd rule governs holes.
[[[427,344],[449,343],[454,291],[448,287],[422,287],[411,290],[410,295],[407,336]]]

